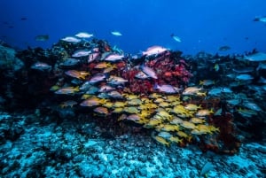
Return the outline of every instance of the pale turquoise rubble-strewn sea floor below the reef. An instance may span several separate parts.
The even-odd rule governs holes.
[[[193,145],[166,147],[132,132],[103,139],[97,136],[103,128],[92,122],[0,115],[0,177],[265,177],[265,143],[243,143],[238,154],[217,155]]]

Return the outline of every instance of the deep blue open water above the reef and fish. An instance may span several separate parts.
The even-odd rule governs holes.
[[[253,21],[265,10],[265,0],[1,0],[0,39],[20,49],[50,48],[86,31],[129,53],[155,44],[185,54],[215,53],[223,45],[231,46],[223,53],[266,51],[266,23]],[[50,39],[35,42],[36,35]]]

